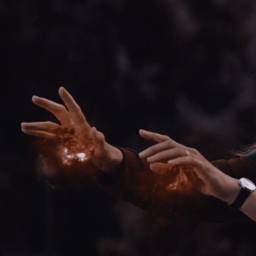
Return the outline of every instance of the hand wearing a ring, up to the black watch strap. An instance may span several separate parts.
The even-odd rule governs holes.
[[[157,144],[139,153],[140,158],[147,158],[150,169],[165,175],[170,168],[160,169],[159,163],[172,166],[188,166],[202,181],[198,187],[201,193],[233,203],[239,193],[239,181],[217,169],[207,161],[196,149],[188,148],[172,140],[167,135],[139,130],[140,135]]]

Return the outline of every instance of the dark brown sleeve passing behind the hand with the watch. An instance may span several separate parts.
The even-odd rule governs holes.
[[[166,191],[166,182],[150,170],[149,163],[140,159],[135,150],[116,148],[123,154],[121,164],[111,175],[96,172],[97,183],[112,196],[171,221],[213,223],[248,219],[243,213],[229,209],[225,202],[197,191],[190,194]],[[246,156],[212,164],[229,176],[256,182],[256,163]]]

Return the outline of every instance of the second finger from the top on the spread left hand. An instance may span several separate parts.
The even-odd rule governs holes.
[[[46,98],[37,97],[35,95],[32,97],[32,101],[37,106],[43,107],[53,113],[54,116],[59,119],[63,126],[70,126],[71,117],[69,112],[63,105],[47,100]]]

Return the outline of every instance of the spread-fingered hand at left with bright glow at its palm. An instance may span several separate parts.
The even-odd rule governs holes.
[[[62,148],[62,153],[65,154],[66,158],[64,158],[63,154],[60,155],[65,161],[67,161],[68,156],[69,158],[75,155],[84,156],[80,152],[88,150],[88,145],[90,145],[92,163],[102,171],[108,172],[112,170],[123,159],[121,151],[108,144],[104,135],[97,131],[95,127],[89,125],[81,108],[64,87],[59,88],[59,95],[68,110],[64,105],[47,100],[46,98],[33,96],[32,101],[37,106],[53,113],[61,124],[49,121],[21,123],[22,132],[50,140],[62,137],[63,143],[68,141],[68,148],[65,148],[64,144]],[[72,154],[68,153],[68,151],[71,151]],[[71,162],[69,161],[68,163],[70,164]]]

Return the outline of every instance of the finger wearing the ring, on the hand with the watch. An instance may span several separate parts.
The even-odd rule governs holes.
[[[159,153],[156,153],[155,155],[149,156],[147,158],[147,161],[149,163],[153,163],[153,162],[163,161],[166,159],[178,158],[181,156],[186,156],[186,150],[182,148],[173,148],[173,149],[167,149]]]

